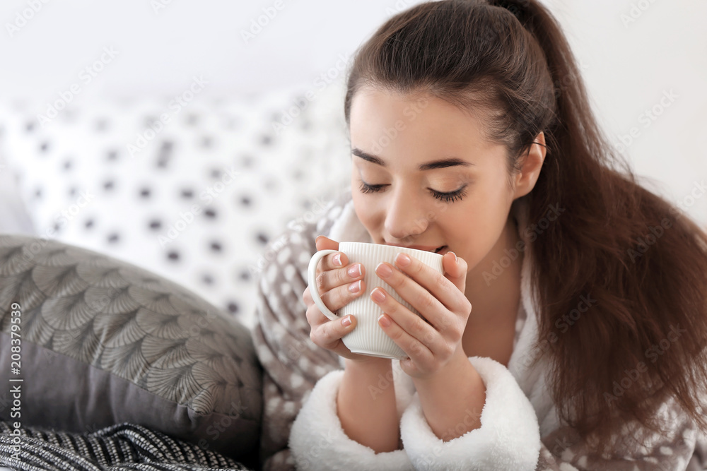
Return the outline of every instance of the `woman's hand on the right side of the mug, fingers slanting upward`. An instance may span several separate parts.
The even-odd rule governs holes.
[[[463,354],[462,334],[472,311],[464,296],[467,263],[449,252],[442,266],[444,275],[414,257],[399,254],[395,266],[380,263],[375,268],[376,275],[422,316],[383,288],[375,288],[370,294],[384,313],[378,324],[407,353],[409,358],[401,360],[400,366],[413,378],[432,376],[455,354]]]

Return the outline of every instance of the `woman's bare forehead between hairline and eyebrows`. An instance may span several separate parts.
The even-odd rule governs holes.
[[[351,101],[351,145],[383,158],[463,158],[496,147],[484,137],[480,117],[430,93],[365,87]]]

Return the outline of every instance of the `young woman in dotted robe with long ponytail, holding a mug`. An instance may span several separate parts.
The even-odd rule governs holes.
[[[544,7],[399,13],[357,52],[344,111],[351,191],[260,280],[266,469],[703,469],[707,234],[604,140]],[[320,263],[332,311],[366,270],[420,311],[370,294],[409,358],[351,354],[355,316],[312,302],[308,260],[342,240],[444,254],[443,276]]]

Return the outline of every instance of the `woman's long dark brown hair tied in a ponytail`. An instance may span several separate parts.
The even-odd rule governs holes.
[[[699,407],[707,384],[707,234],[638,184],[602,136],[568,42],[546,8],[536,0],[413,6],[358,49],[347,124],[362,86],[423,91],[483,110],[489,138],[508,148],[509,171],[544,132],[542,172],[523,198],[530,222],[551,205],[566,208],[527,247],[538,337],[551,339],[543,348],[564,422],[605,451],[626,419],[669,429],[655,412],[672,396],[707,426]],[[595,300],[591,308],[558,330],[583,296]]]

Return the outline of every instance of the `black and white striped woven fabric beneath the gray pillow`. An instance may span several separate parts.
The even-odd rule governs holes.
[[[248,470],[219,453],[134,424],[88,434],[13,431],[10,422],[0,422],[0,465],[21,471]]]

